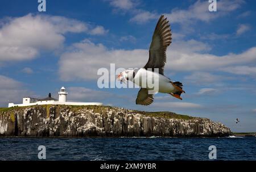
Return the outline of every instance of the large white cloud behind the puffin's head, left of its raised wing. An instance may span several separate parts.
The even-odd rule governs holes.
[[[135,49],[126,51],[122,49],[109,50],[102,44],[94,44],[89,40],[73,44],[71,51],[61,55],[59,61],[59,74],[64,81],[73,79],[95,79],[100,68],[138,68],[148,60],[147,51]],[[136,61],[135,59],[144,59]]]

